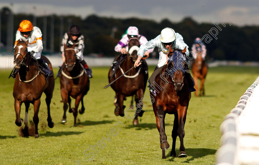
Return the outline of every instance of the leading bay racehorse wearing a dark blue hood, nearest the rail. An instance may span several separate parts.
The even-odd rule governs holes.
[[[162,70],[155,79],[157,90],[150,92],[151,98],[154,98],[153,110],[156,117],[156,125],[160,135],[160,148],[162,149],[162,159],[166,159],[165,149],[169,148],[167,135],[165,133],[165,115],[174,114],[174,126],[172,131],[172,151],[171,156],[176,156],[175,142],[177,136],[180,139],[179,158],[187,157],[183,146],[184,124],[187,115],[187,108],[191,99],[188,81],[184,73],[187,68],[187,62],[184,60],[186,47],[184,50],[172,50],[169,48],[168,64],[162,66]],[[160,89],[160,91],[159,91]]]

